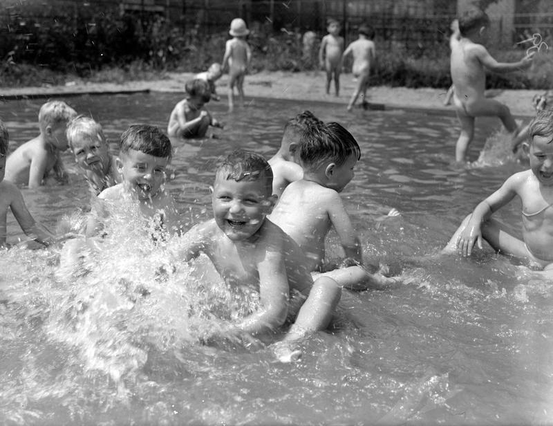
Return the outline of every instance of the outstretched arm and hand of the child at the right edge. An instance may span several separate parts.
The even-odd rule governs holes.
[[[482,248],[482,223],[494,212],[509,203],[518,194],[519,185],[523,184],[523,174],[518,173],[505,180],[501,187],[484,201],[481,201],[471,214],[467,226],[459,235],[457,248],[463,256],[470,256],[475,243]]]

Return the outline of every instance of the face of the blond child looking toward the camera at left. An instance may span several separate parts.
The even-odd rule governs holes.
[[[100,135],[77,133],[71,141],[71,150],[79,167],[104,174],[109,163],[108,144]]]

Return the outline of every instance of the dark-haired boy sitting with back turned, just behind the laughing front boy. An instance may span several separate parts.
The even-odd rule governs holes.
[[[353,168],[360,157],[357,141],[340,124],[312,125],[299,143],[303,178],[284,189],[269,216],[305,252],[308,270],[324,272],[339,286],[352,289],[396,282],[362,266],[362,246],[340,198],[340,192],[353,179]],[[352,266],[332,269],[325,264],[325,239],[330,228],[335,228],[346,264]]]

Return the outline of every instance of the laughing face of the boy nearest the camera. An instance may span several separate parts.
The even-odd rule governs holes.
[[[272,210],[272,196],[263,178],[228,180],[217,176],[212,194],[215,222],[232,241],[250,239]]]

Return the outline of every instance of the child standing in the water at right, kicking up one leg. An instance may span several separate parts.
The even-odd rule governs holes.
[[[532,55],[526,55],[518,62],[497,62],[482,46],[486,39],[489,18],[482,10],[472,8],[464,12],[459,20],[460,39],[451,43],[451,80],[453,80],[453,104],[461,124],[457,140],[456,161],[465,161],[467,149],[474,137],[474,119],[491,115],[501,119],[513,138],[517,125],[509,108],[497,100],[485,97],[486,70],[505,73],[532,64]]]

